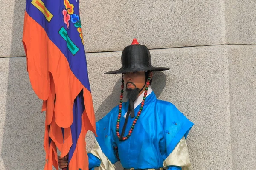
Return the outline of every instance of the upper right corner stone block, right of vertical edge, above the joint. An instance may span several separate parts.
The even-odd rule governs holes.
[[[255,9],[255,0],[225,0],[227,43],[256,44]]]

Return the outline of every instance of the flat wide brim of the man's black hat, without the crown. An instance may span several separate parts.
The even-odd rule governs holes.
[[[119,73],[129,73],[129,72],[136,72],[136,71],[164,71],[169,69],[170,68],[167,68],[167,67],[129,68],[129,69],[120,68],[119,70],[108,71],[104,74],[119,74]]]

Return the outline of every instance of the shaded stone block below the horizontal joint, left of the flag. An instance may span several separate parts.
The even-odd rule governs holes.
[[[0,170],[42,170],[44,113],[26,57],[0,58]]]

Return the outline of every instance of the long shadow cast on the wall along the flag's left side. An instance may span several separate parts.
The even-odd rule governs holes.
[[[11,56],[23,49],[22,32],[26,1],[15,0]],[[1,170],[44,169],[44,113],[31,88],[26,57],[9,60],[6,117],[2,135]]]

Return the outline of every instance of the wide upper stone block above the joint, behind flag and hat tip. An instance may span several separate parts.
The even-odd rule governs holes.
[[[24,56],[25,2],[1,0],[0,57]],[[87,52],[122,51],[136,37],[148,48],[213,45],[225,40],[224,0],[80,0]]]

